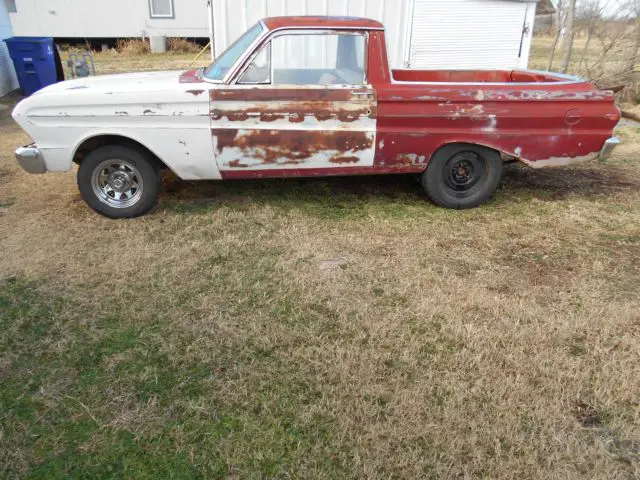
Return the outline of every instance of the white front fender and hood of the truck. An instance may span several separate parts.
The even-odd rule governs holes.
[[[46,170],[71,170],[95,136],[134,140],[180,178],[219,179],[211,147],[208,83],[180,83],[181,72],[145,72],[71,80],[21,101],[13,118],[37,143]]]

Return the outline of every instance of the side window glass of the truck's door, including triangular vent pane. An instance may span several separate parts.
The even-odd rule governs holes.
[[[361,33],[285,33],[263,48],[239,83],[363,85],[364,59]]]

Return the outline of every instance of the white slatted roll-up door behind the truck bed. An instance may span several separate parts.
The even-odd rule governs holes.
[[[508,0],[414,0],[407,66],[517,68],[529,54],[528,7]]]

